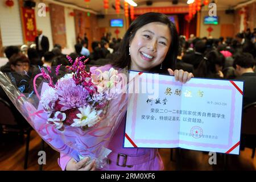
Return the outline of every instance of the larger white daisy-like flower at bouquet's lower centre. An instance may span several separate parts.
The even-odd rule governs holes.
[[[91,127],[98,122],[98,113],[96,110],[91,110],[90,106],[80,107],[79,111],[81,113],[76,114],[79,119],[73,119],[71,126],[73,127],[82,127],[88,125]]]

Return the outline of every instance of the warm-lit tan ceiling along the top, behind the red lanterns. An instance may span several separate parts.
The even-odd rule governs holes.
[[[64,2],[64,3],[69,3],[71,5],[79,6],[86,8],[86,3],[84,0],[54,0],[58,2]],[[163,7],[163,6],[175,6],[172,5],[172,0],[151,0],[153,2],[152,6],[158,6],[158,7]],[[249,0],[247,0],[249,1]],[[229,7],[234,7],[237,6],[240,3],[247,2],[246,0],[215,0],[215,3],[217,5],[217,10],[221,9],[228,9]],[[145,7],[146,6],[146,0],[134,0],[138,4],[137,7]],[[177,6],[187,6],[187,0],[179,0],[179,3]],[[201,1],[203,2],[203,0]],[[209,2],[211,2],[209,0]],[[109,10],[108,14],[115,14],[115,10],[112,8],[112,5],[115,5],[115,0],[109,0]],[[104,3],[103,0],[90,0],[89,2],[89,9],[96,11],[97,13],[105,13],[104,10]],[[123,0],[121,0],[121,6],[123,6]],[[123,10],[120,10],[120,13],[123,14]]]

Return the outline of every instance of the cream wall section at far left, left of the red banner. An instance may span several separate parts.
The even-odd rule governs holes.
[[[3,46],[21,46],[23,44],[18,0],[14,0],[13,7],[6,7],[5,1],[0,1],[0,28]]]

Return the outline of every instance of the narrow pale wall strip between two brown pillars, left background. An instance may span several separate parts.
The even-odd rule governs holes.
[[[74,16],[69,15],[69,13],[72,11],[73,9],[68,9],[67,7],[64,7],[67,49],[72,49],[72,52],[74,52],[74,46],[76,44],[75,18]]]

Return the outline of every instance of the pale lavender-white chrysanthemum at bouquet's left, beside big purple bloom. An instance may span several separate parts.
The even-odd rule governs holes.
[[[45,110],[52,110],[55,102],[58,99],[58,95],[56,94],[56,90],[52,87],[46,89],[41,97],[41,104]]]

